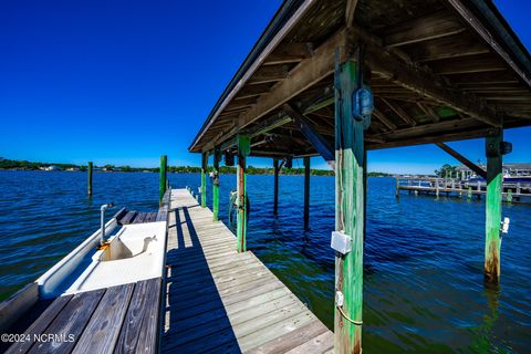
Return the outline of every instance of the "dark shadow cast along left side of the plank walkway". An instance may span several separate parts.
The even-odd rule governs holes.
[[[188,208],[174,211],[177,248],[168,250],[166,261],[170,267],[166,308],[169,327],[163,336],[163,353],[217,352],[220,346],[223,353],[241,353]],[[185,225],[191,240],[188,247]]]

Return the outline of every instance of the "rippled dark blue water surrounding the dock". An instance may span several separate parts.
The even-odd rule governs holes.
[[[170,174],[197,190],[198,175]],[[303,178],[281,176],[279,217],[272,176],[249,176],[248,248],[333,326],[334,178],[312,177],[311,230],[302,229]],[[525,353],[531,348],[531,207],[504,206],[498,289],[483,287],[485,205],[394,195],[394,179],[369,178],[363,344],[367,353]],[[211,206],[210,181],[208,204]],[[100,205],[158,206],[158,175],[0,171],[0,299],[34,280],[98,227]],[[221,176],[227,221],[236,176]]]

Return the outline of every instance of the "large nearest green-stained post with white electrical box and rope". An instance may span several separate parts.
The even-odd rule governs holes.
[[[342,354],[362,352],[364,131],[369,116],[353,117],[351,97],[362,81],[358,73],[353,61],[335,72],[335,230],[350,238],[352,249],[335,253],[334,350]]]

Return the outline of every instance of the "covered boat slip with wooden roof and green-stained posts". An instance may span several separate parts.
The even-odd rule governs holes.
[[[437,144],[487,180],[485,281],[500,281],[503,129],[531,125],[531,58],[487,0],[288,0],[227,86],[189,150],[237,159],[238,250],[246,251],[246,158],[310,156],[335,170],[334,350],[362,352],[366,152]],[[487,168],[445,142],[485,138]],[[503,225],[503,230],[508,225]],[[332,230],[331,230],[332,231]],[[478,250],[483,252],[483,250]],[[458,294],[456,294],[458,296]]]

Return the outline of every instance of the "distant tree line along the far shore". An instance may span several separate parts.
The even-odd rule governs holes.
[[[80,169],[86,170],[86,166],[80,166],[74,164],[52,164],[52,163],[32,163],[27,160],[14,160],[14,159],[4,159],[0,158],[0,169],[22,169],[22,170],[38,170],[42,169],[48,166],[58,166],[61,169]],[[96,167],[98,169],[103,169],[105,171],[123,171],[123,173],[136,173],[136,171],[150,171],[150,173],[158,173],[158,167],[131,167],[128,165],[125,166],[115,166],[115,165],[104,165]],[[214,170],[214,167],[209,167],[207,173]],[[196,166],[168,166],[169,173],[176,174],[199,174],[201,171],[200,167]],[[311,169],[310,170],[314,176],[334,176],[334,171],[330,169]],[[236,167],[230,166],[221,166],[219,168],[219,173],[221,175],[232,175],[236,174]],[[248,166],[247,174],[249,175],[272,175],[274,174],[273,167],[254,167]],[[304,168],[287,168],[283,167],[281,170],[282,175],[304,175]],[[384,173],[368,173],[368,177],[384,177],[391,176],[389,174]]]

